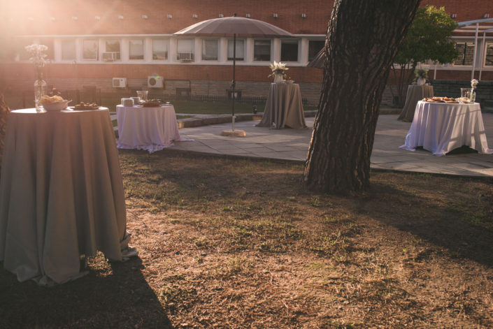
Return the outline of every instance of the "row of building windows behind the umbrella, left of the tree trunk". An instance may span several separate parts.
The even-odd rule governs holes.
[[[48,45],[48,58],[55,59],[54,40],[45,38],[38,40],[38,43]],[[152,43],[152,60],[165,61],[169,59],[170,39],[168,38],[129,38],[123,42],[122,39],[105,38],[85,38],[80,43],[83,61],[120,61],[122,60],[122,50],[126,47],[129,61],[145,59],[146,42]],[[280,61],[297,62],[299,61],[299,39],[282,40],[280,43]],[[61,38],[60,59],[62,61],[72,61],[77,59],[77,41],[75,38]],[[17,45],[17,60],[27,60],[28,55],[23,49],[24,45]],[[233,40],[227,40],[227,60],[232,61],[234,57]],[[313,59],[317,52],[324,47],[324,41],[308,41],[308,61]],[[102,49],[100,49],[102,48]],[[236,40],[236,60],[245,60],[245,39]],[[253,40],[253,61],[271,61],[272,59],[272,40],[255,39]],[[195,56],[194,39],[176,40],[176,60],[193,61]],[[202,61],[217,61],[220,57],[220,39],[204,38],[201,40]]]

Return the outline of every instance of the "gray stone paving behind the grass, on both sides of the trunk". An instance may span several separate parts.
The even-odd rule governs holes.
[[[409,130],[409,122],[397,120],[399,115],[380,115],[375,134],[371,168],[418,173],[493,177],[493,154],[463,152],[434,156],[417,149],[411,152],[399,149]],[[237,122],[235,129],[246,132],[246,137],[221,136],[231,129],[229,124],[214,124],[180,129],[180,135],[192,142],[175,142],[173,149],[190,152],[250,156],[253,158],[306,160],[308,144],[313,131],[313,117],[306,118],[308,129],[269,129],[256,127],[256,121]],[[493,148],[493,114],[483,114],[488,145]]]

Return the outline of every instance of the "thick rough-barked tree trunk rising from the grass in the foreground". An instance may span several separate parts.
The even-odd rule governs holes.
[[[378,108],[420,0],[336,0],[304,182],[347,193],[369,186]]]

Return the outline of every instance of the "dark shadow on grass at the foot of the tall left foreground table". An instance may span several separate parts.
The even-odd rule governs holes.
[[[96,261],[85,277],[51,288],[17,282],[1,269],[0,328],[173,328],[141,258]]]

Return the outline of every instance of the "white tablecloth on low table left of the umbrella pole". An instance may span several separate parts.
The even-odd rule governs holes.
[[[173,146],[181,138],[173,105],[159,108],[117,105],[118,143],[120,149],[145,149],[149,153]]]

